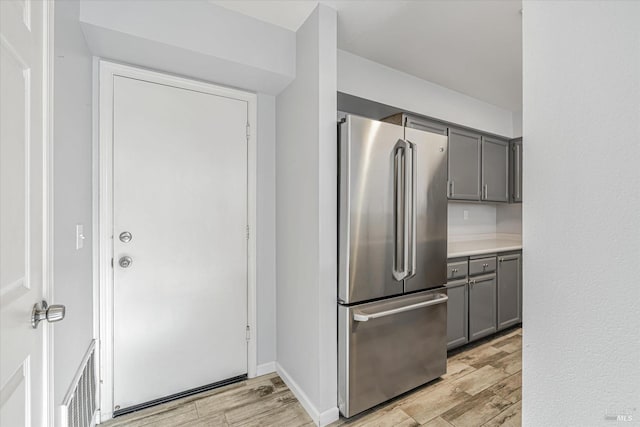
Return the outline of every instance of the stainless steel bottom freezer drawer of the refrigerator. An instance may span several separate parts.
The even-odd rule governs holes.
[[[342,415],[356,415],[446,372],[446,292],[338,307]]]

